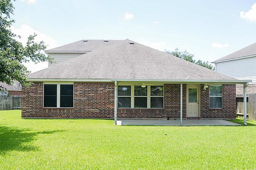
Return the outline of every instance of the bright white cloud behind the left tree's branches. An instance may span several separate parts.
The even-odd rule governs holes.
[[[54,38],[51,38],[50,36],[47,36],[46,34],[43,34],[35,30],[34,28],[31,28],[27,24],[21,24],[20,28],[15,28],[14,26],[11,26],[11,30],[14,34],[21,36],[21,38],[16,38],[16,40],[21,42],[23,45],[26,45],[28,36],[36,33],[37,36],[34,41],[35,42],[44,41],[44,44],[47,46],[46,49],[51,49],[58,46]],[[24,63],[24,65],[28,68],[28,70],[32,72],[39,71],[41,69],[48,67],[47,62],[42,62],[37,64],[34,64],[33,62],[29,62],[29,63]]]

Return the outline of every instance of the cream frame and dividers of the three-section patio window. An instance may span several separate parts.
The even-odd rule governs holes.
[[[131,84],[119,84],[119,85],[127,85],[127,86],[131,86],[131,96],[118,96],[118,97],[131,97],[131,107],[128,107],[128,109],[134,109],[134,86],[135,85],[131,85]],[[119,86],[118,85],[118,86]],[[150,107],[150,104],[151,104],[151,97],[163,97],[163,103],[164,103],[164,92],[163,92],[163,96],[151,96],[151,93],[150,93],[150,89],[151,89],[151,85],[146,85],[147,86],[147,96],[136,96],[136,97],[147,97],[147,107],[136,107],[135,109],[164,109],[164,104],[163,104],[163,107],[162,108],[151,108]],[[163,86],[164,88],[164,85],[152,85],[152,86]],[[125,109],[124,107],[118,107],[120,109]]]

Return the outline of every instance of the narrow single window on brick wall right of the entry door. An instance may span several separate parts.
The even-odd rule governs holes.
[[[222,108],[222,86],[221,85],[210,86],[210,108],[211,109]]]

